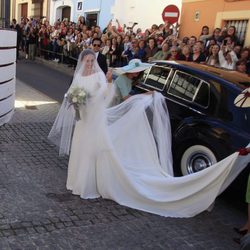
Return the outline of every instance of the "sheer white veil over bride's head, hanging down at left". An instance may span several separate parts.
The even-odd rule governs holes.
[[[106,77],[98,65],[95,53],[90,49],[82,51],[78,57],[76,70],[69,90],[73,87],[80,86],[81,81],[84,81],[84,78],[81,76],[88,76],[96,73],[100,74],[100,81],[106,82]],[[98,92],[102,93],[102,91],[97,91],[96,97],[98,96]],[[74,125],[75,111],[65,95],[58,115],[48,135],[48,139],[59,147],[60,156],[69,154]]]

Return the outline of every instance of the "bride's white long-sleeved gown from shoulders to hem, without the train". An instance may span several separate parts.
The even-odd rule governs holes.
[[[96,183],[96,159],[107,149],[107,130],[103,95],[107,83],[102,73],[77,75],[72,87],[80,87],[91,95],[80,110],[81,120],[75,124],[68,165],[67,188],[82,198],[100,196]]]

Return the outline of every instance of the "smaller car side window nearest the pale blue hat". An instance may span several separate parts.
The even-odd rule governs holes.
[[[166,86],[170,72],[170,68],[153,66],[149,70],[145,71],[143,84],[162,91]]]

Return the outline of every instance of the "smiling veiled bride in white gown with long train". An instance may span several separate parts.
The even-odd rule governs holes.
[[[108,84],[95,54],[85,50],[79,58],[71,88],[90,96],[80,109],[81,120],[74,120],[74,108],[65,98],[49,134],[60,154],[70,152],[67,189],[73,194],[190,217],[208,209],[250,161],[249,155],[234,153],[198,173],[173,177],[164,97],[135,95],[106,109]]]

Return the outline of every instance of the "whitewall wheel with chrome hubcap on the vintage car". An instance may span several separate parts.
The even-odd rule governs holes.
[[[182,175],[192,174],[210,167],[217,162],[215,154],[206,146],[188,147],[181,157]]]

